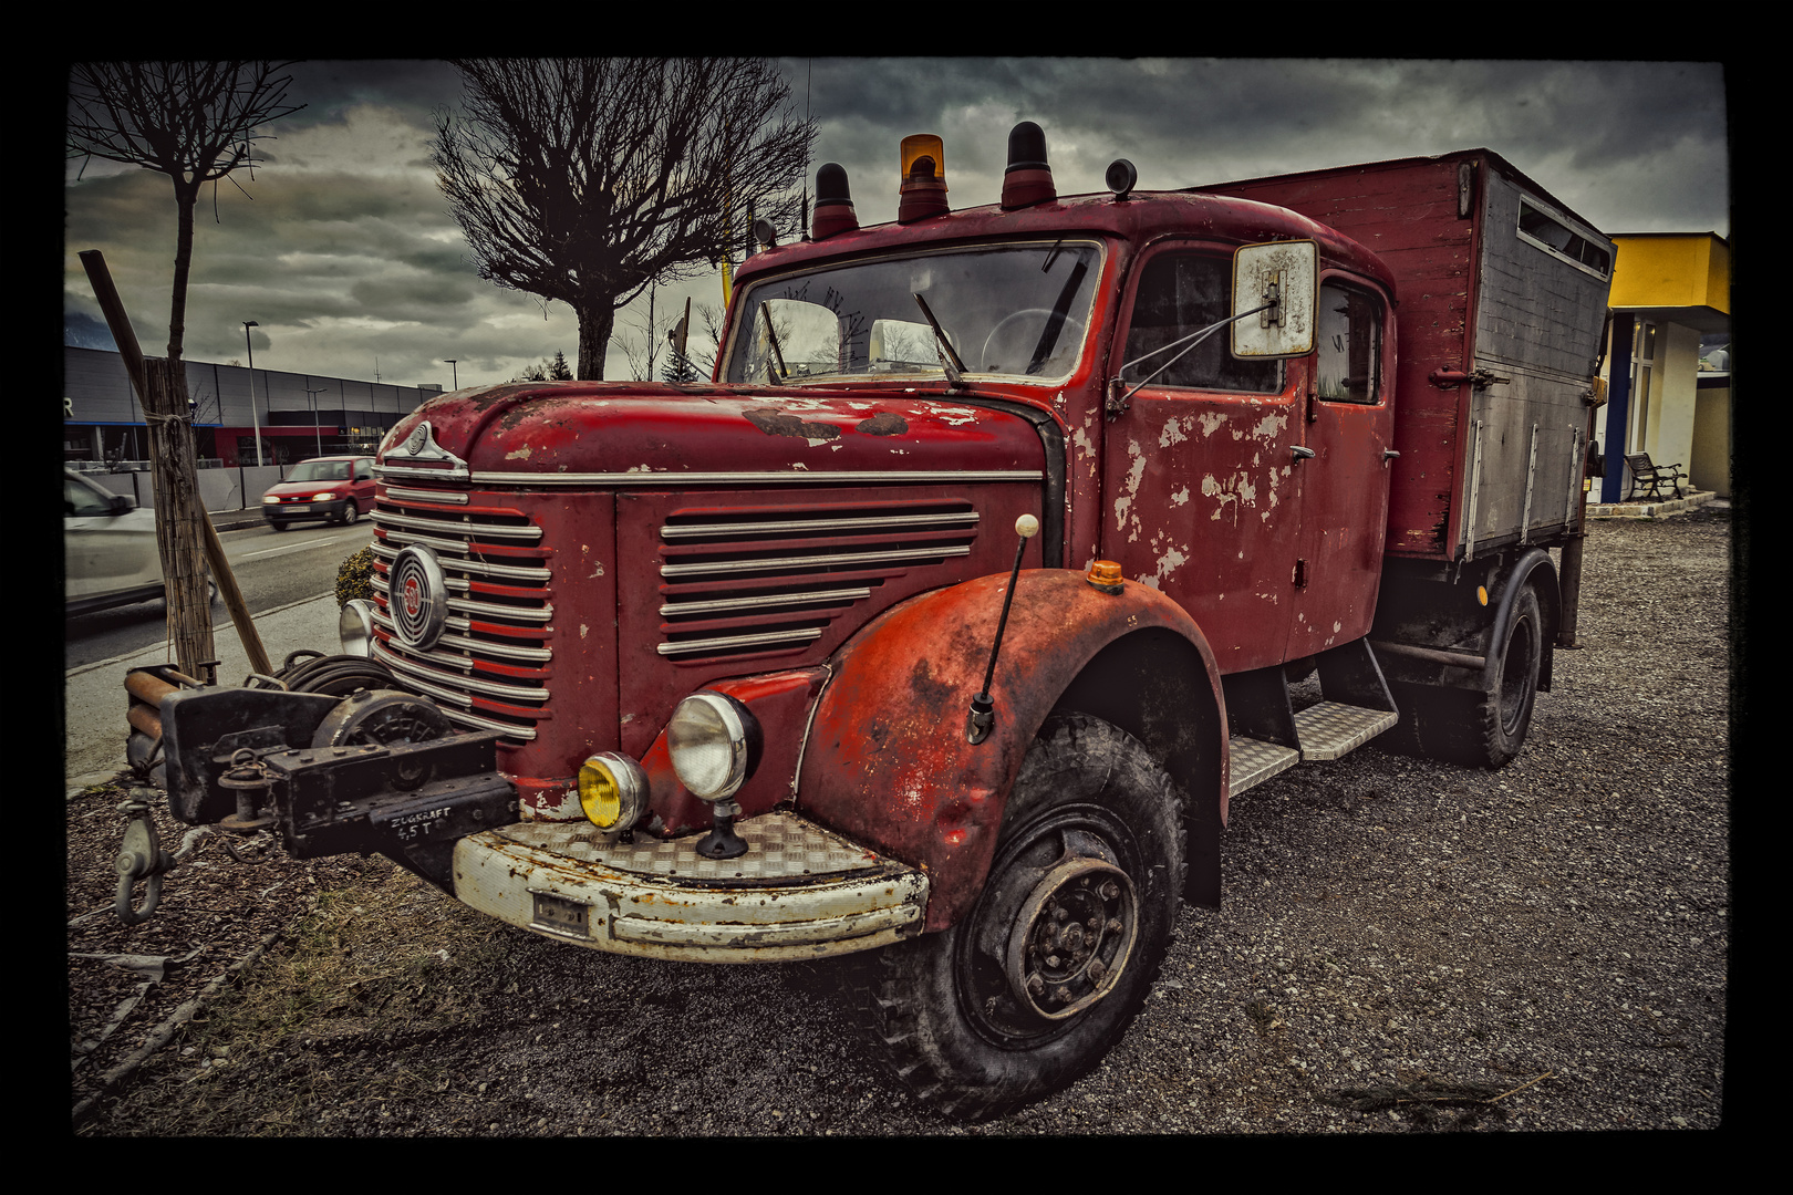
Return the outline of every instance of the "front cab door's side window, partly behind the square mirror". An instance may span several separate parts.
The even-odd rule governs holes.
[[[1203,391],[1248,391],[1275,394],[1282,389],[1282,362],[1234,360],[1225,328],[1210,333],[1191,351],[1185,344],[1169,348],[1183,337],[1226,319],[1232,299],[1232,258],[1196,253],[1160,253],[1146,263],[1139,288],[1133,294],[1133,317],[1128,322],[1126,365],[1121,378],[1139,383],[1153,378],[1153,385],[1185,385]],[[1182,357],[1178,357],[1182,353]]]

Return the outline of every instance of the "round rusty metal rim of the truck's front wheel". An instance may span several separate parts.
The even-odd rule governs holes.
[[[1113,994],[1139,941],[1137,865],[1128,830],[1099,806],[1061,808],[1000,851],[954,959],[983,1037],[1029,1050]]]

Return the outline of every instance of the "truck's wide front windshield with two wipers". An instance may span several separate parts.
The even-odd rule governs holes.
[[[730,382],[941,373],[934,315],[956,367],[1067,378],[1083,353],[1101,272],[1092,242],[1004,244],[785,274],[742,299]]]

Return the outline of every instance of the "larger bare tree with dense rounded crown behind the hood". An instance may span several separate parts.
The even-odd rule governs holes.
[[[579,319],[579,378],[604,376],[617,310],[724,260],[746,213],[800,222],[814,122],[766,59],[457,61],[436,168],[479,276]]]

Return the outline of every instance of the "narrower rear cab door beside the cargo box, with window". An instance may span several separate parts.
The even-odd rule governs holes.
[[[1393,473],[1395,326],[1377,288],[1323,276],[1300,369],[1302,491],[1287,659],[1370,634]]]

